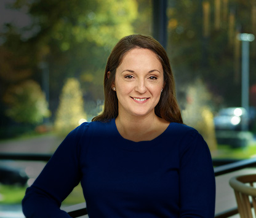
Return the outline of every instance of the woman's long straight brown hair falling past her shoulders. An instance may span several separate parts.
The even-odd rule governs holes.
[[[162,91],[159,103],[154,108],[154,112],[168,122],[183,123],[180,108],[175,98],[175,82],[170,61],[162,45],[151,36],[133,34],[123,37],[112,50],[105,68],[104,95],[105,103],[103,112],[92,119],[92,121],[106,122],[118,116],[118,98],[111,85],[116,76],[116,69],[121,64],[124,54],[134,48],[149,49],[156,53],[161,61],[164,70],[164,90]],[[108,72],[110,72],[108,76]]]

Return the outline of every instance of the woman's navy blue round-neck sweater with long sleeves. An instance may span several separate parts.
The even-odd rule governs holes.
[[[152,141],[122,138],[114,119],[83,123],[55,151],[22,201],[26,217],[69,217],[81,181],[93,217],[214,217],[215,177],[198,131],[179,123]]]

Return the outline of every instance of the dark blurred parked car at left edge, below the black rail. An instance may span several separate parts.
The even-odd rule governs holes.
[[[0,166],[0,183],[4,185],[21,185],[28,182],[28,176],[23,169],[10,166]]]

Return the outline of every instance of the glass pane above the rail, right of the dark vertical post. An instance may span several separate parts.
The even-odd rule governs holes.
[[[213,158],[254,157],[255,2],[168,2],[167,52],[184,122]]]

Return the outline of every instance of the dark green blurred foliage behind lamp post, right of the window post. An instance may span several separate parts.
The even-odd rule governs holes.
[[[216,2],[169,1],[167,50],[178,85],[189,85],[199,77],[217,97],[212,99],[215,103],[234,106],[241,104],[241,42],[236,34],[256,33],[255,18],[251,16],[255,5],[250,1],[220,1],[217,10]],[[208,34],[204,34],[207,17],[203,4],[209,6]],[[250,85],[256,82],[255,58],[256,41],[250,42]]]

